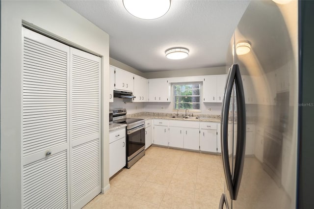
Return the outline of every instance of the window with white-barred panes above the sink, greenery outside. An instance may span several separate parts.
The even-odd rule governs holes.
[[[174,83],[174,109],[200,110],[200,83]]]

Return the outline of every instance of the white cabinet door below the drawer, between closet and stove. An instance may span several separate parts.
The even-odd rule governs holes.
[[[113,176],[126,166],[126,138],[109,144],[109,176]]]

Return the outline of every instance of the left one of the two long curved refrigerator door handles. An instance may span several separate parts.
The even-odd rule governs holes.
[[[233,65],[229,69],[228,78],[225,86],[225,94],[223,98],[223,106],[221,109],[221,121],[220,121],[220,131],[221,131],[221,156],[223,162],[223,168],[225,173],[225,179],[227,183],[227,187],[230,193],[231,199],[234,199],[234,189],[233,189],[233,181],[230,171],[230,162],[229,162],[229,153],[228,153],[228,119],[229,119],[229,106],[232,94],[232,88],[235,80],[235,70],[236,67]]]

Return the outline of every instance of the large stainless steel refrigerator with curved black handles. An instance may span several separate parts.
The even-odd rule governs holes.
[[[295,208],[298,2],[251,1],[226,63],[219,208]]]

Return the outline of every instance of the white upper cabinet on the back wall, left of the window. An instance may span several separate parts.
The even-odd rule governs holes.
[[[170,102],[170,85],[167,78],[149,79],[149,102]]]

